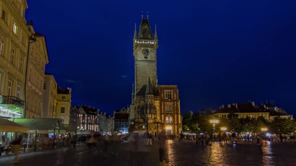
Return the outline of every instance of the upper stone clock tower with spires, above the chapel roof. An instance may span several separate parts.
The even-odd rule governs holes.
[[[147,85],[149,78],[154,86],[158,84],[157,48],[158,36],[156,27],[155,35],[153,35],[148,18],[142,18],[138,34],[135,27],[133,35],[135,94],[143,85]]]

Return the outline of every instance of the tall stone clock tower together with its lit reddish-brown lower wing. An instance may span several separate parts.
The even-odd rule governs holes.
[[[157,76],[158,35],[153,35],[148,18],[142,18],[137,34],[134,29],[133,56],[135,87],[129,107],[130,130],[150,133],[181,133],[179,89],[177,85],[160,85]]]

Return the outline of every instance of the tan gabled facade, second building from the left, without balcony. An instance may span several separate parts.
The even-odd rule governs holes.
[[[26,116],[42,117],[45,65],[49,63],[46,38],[28,25],[34,41],[29,43],[26,78]]]

